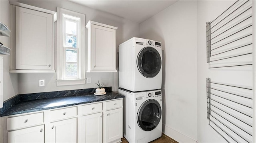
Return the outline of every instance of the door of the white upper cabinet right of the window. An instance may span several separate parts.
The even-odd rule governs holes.
[[[116,30],[92,24],[92,69],[116,70]]]

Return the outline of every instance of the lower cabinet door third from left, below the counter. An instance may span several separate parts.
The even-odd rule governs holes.
[[[102,143],[102,112],[82,116],[82,143]]]

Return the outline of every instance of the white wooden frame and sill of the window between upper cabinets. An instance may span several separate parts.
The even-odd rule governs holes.
[[[85,15],[58,7],[57,15],[56,84],[57,86],[86,84]],[[64,47],[66,20],[80,23],[80,26],[77,23],[77,48]],[[77,50],[77,76],[66,76],[66,49]]]

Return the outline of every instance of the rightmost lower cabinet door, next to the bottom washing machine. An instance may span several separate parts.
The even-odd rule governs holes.
[[[122,108],[106,111],[106,142],[122,138]]]

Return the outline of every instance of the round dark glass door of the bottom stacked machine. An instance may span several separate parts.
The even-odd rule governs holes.
[[[160,104],[150,99],[144,102],[137,113],[137,123],[144,131],[152,131],[160,122],[162,109]]]

